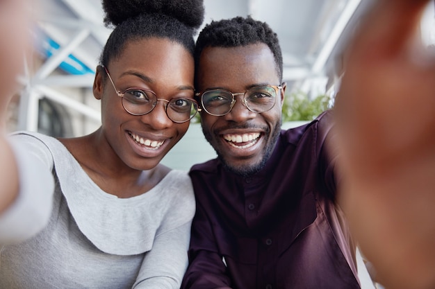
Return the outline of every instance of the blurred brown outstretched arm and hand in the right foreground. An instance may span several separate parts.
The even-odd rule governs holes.
[[[435,53],[429,0],[379,0],[350,42],[336,98],[339,196],[386,288],[435,287]]]

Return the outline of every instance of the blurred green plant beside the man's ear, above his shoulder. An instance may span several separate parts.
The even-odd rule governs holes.
[[[320,95],[310,99],[304,92],[295,92],[286,95],[282,107],[282,120],[286,121],[312,121],[319,114],[329,109],[331,96]]]

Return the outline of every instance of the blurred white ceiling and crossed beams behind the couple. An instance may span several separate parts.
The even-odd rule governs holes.
[[[352,33],[354,22],[371,1],[374,0],[204,0],[204,24],[239,15],[268,22],[281,43],[287,91],[316,96],[325,93],[328,78],[329,82],[334,80],[340,69],[343,31],[345,35]],[[19,127],[35,130],[35,99],[42,95],[99,121],[98,111],[61,94],[57,88],[92,87],[100,51],[110,34],[103,24],[100,0],[32,3],[33,10],[40,11],[35,12],[35,30],[39,32],[34,35],[43,63],[22,78],[28,94],[24,96],[24,108],[20,108]],[[433,6],[434,3],[428,17],[432,22],[427,26],[435,38]]]

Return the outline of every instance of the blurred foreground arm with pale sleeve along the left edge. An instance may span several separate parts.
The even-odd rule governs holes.
[[[6,130],[8,104],[19,89],[17,76],[24,69],[24,55],[31,54],[31,4],[0,0],[0,246],[30,238],[51,213],[51,173],[29,166],[35,158],[31,164],[40,164],[38,157],[24,144],[13,143]]]

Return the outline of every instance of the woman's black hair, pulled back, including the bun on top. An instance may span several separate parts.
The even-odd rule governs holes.
[[[104,24],[114,28],[100,64],[120,56],[126,42],[149,37],[167,38],[193,55],[197,28],[204,21],[203,0],[101,0]]]

